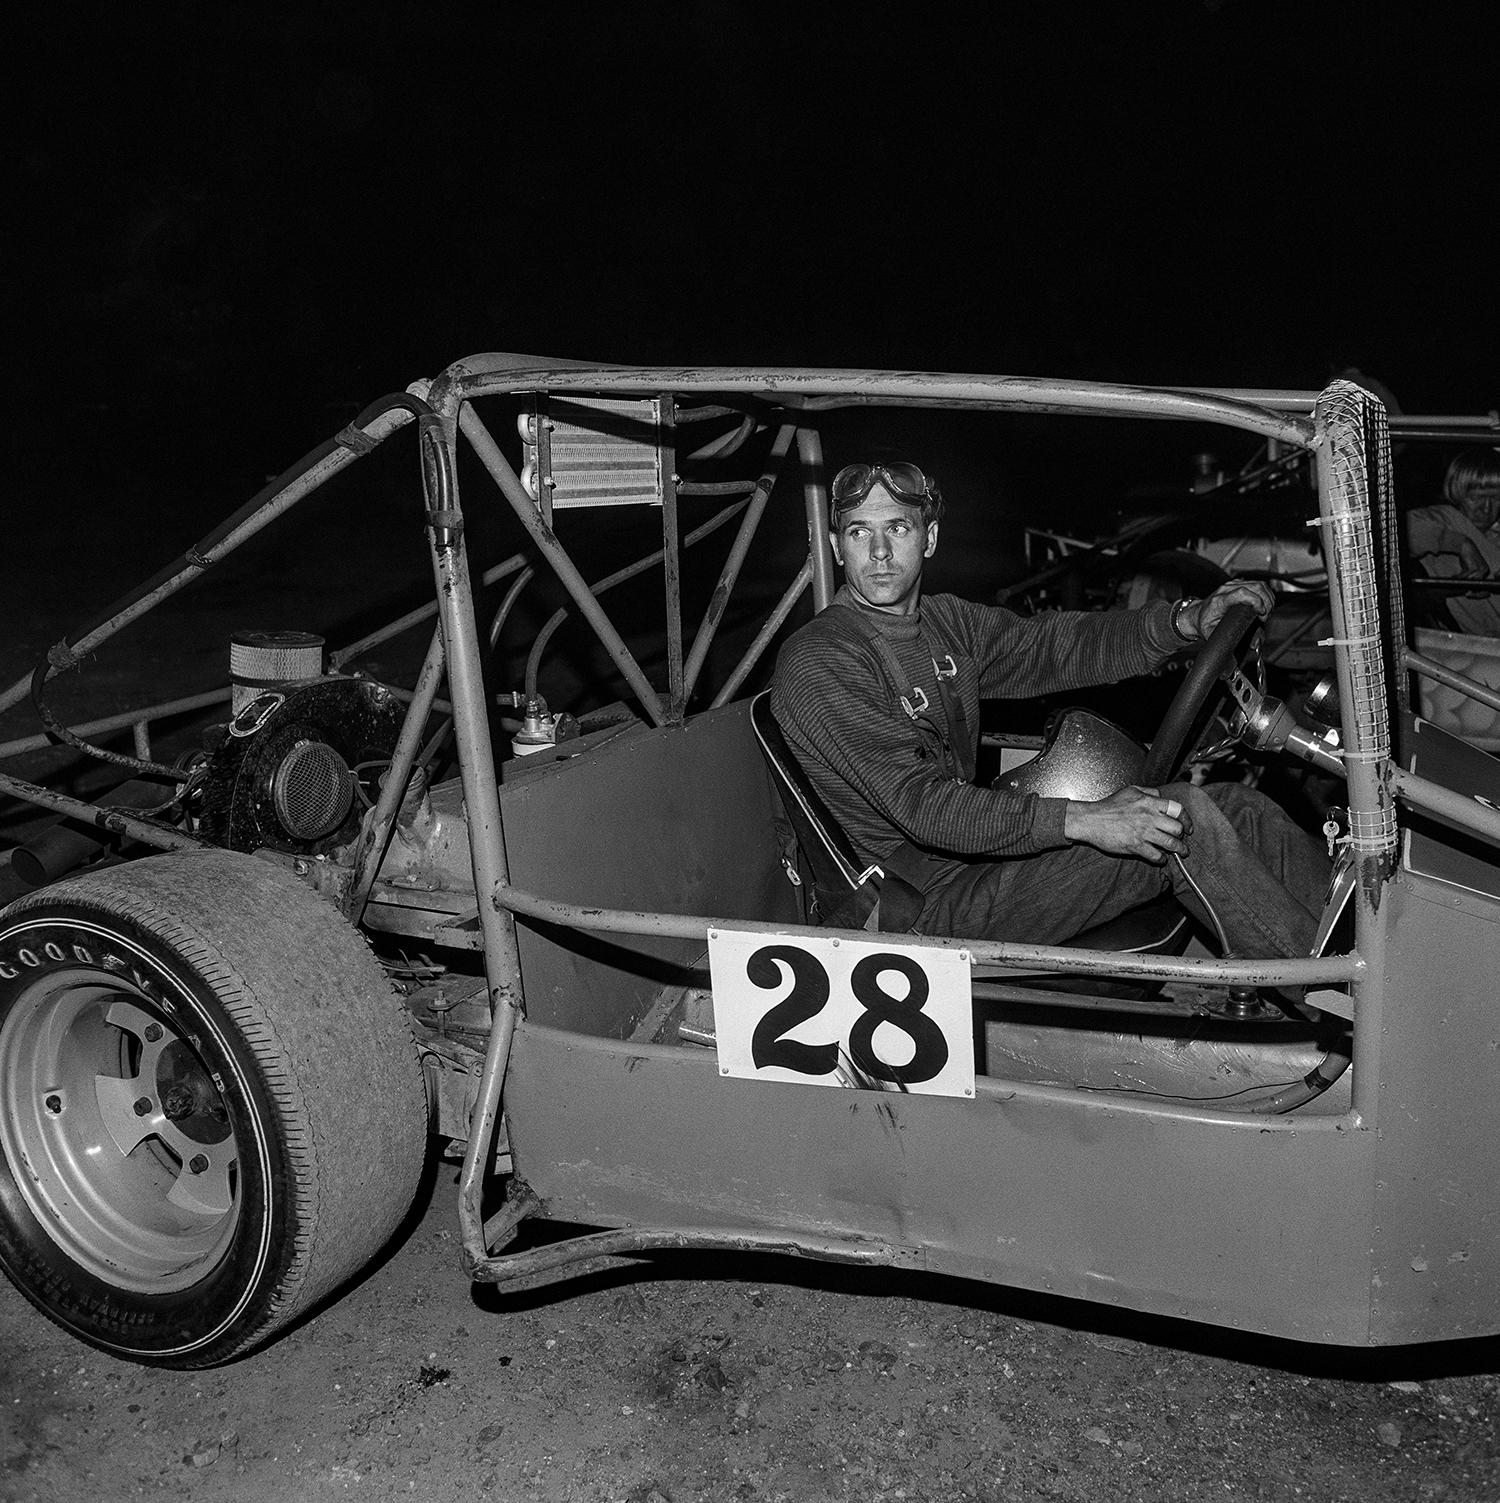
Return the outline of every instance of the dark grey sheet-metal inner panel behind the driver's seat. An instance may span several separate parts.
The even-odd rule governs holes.
[[[776,857],[776,795],[747,720],[748,705],[736,703],[687,726],[633,727],[507,785],[513,879],[591,905],[800,923]],[[703,954],[700,938],[630,938],[621,948],[529,921],[517,933],[528,1016],[586,1033],[628,1033],[673,969]]]

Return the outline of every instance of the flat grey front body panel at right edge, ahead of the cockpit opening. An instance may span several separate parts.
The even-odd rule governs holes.
[[[1500,1330],[1500,902],[1404,872],[1375,1166],[1372,1335]]]

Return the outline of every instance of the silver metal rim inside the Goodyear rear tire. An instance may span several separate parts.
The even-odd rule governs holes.
[[[47,1234],[104,1282],[171,1294],[222,1258],[239,1141],[179,1013],[98,971],[59,971],[0,1024],[0,1148]]]

